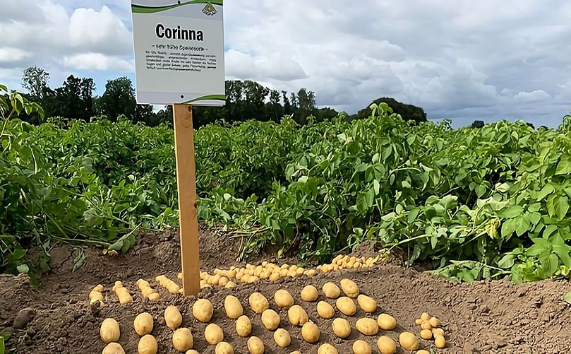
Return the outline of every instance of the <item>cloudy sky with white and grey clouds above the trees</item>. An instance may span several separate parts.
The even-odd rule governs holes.
[[[97,94],[134,80],[129,0],[0,0],[0,82],[19,89],[40,66]],[[568,0],[232,0],[224,6],[227,78],[313,90],[354,113],[390,96],[429,119],[525,119],[556,127],[571,112]]]

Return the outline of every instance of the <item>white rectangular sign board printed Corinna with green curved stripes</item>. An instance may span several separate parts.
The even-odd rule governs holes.
[[[140,104],[223,106],[222,0],[132,0]]]

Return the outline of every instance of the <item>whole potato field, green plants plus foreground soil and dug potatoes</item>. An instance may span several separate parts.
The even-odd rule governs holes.
[[[172,125],[31,125],[8,101],[0,354],[568,350],[569,116],[203,126],[184,297]]]

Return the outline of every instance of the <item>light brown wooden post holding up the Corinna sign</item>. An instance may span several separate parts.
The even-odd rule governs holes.
[[[181,271],[184,296],[200,293],[198,210],[196,208],[196,166],[191,105],[174,105],[174,152],[179,191]]]

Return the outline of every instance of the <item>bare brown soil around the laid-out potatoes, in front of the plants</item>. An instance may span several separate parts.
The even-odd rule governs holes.
[[[236,265],[239,239],[231,239],[220,231],[201,230],[201,264],[203,270]],[[362,249],[366,252],[366,249]],[[183,326],[188,326],[195,338],[199,353],[214,353],[203,337],[205,324],[200,324],[191,314],[194,297],[169,295],[155,282],[155,276],[166,274],[176,279],[179,271],[179,242],[176,230],[161,235],[138,237],[138,244],[126,255],[104,256],[99,249],[87,249],[87,261],[72,273],[75,254],[69,247],[52,250],[54,271],[42,278],[40,288],[30,288],[23,276],[0,278],[0,332],[13,333],[6,345],[16,353],[101,353],[104,343],[100,340],[99,326],[105,317],[113,317],[121,325],[119,343],[126,353],[137,352],[139,336],[133,330],[133,319],[140,312],[150,312],[155,318],[152,335],[159,343],[159,353],[178,353],[172,346],[172,330],[164,324],[162,314],[167,305],[176,305],[183,314]],[[258,259],[260,261],[260,259]],[[255,264],[256,260],[251,263]],[[290,259],[289,264],[292,263]],[[326,281],[339,283],[344,278],[353,279],[361,293],[378,301],[381,312],[397,319],[395,331],[380,331],[377,336],[365,337],[356,329],[347,340],[332,335],[332,320],[321,319],[315,311],[315,303],[303,302],[299,293],[304,285],[318,288]],[[135,282],[145,278],[159,290],[158,302],[144,300]],[[131,290],[134,302],[119,305],[109,289],[115,281],[123,281]],[[101,283],[107,291],[108,306],[92,312],[88,305],[88,293]],[[428,273],[404,269],[394,265],[378,265],[372,269],[335,271],[314,278],[300,277],[280,280],[277,283],[260,281],[253,285],[241,284],[233,289],[205,289],[200,297],[208,298],[215,306],[212,321],[222,326],[224,340],[232,343],[235,353],[248,353],[247,338],[236,335],[234,321],[224,316],[223,302],[228,294],[241,299],[244,311],[253,321],[252,335],[265,343],[265,353],[316,353],[318,344],[308,344],[301,339],[300,329],[289,325],[287,312],[279,310],[273,301],[275,290],[284,288],[308,311],[309,317],[321,329],[319,343],[332,343],[339,353],[352,353],[356,338],[371,344],[378,353],[376,340],[381,335],[398,338],[402,331],[419,334],[414,320],[421,312],[428,312],[443,322],[447,334],[447,347],[437,353],[567,353],[571,343],[571,307],[563,301],[563,295],[571,290],[567,281],[541,281],[515,285],[508,281],[480,281],[472,284],[455,284]],[[272,339],[272,333],[263,328],[260,316],[248,305],[248,296],[254,291],[263,293],[270,307],[282,318],[282,328],[291,334],[291,346],[280,349]],[[325,300],[320,294],[320,300]],[[333,300],[327,300],[335,305]],[[23,330],[14,330],[13,319],[20,309],[32,307],[35,317]],[[359,308],[359,307],[358,307]],[[337,317],[345,317],[337,312]],[[361,309],[349,319],[354,328],[356,319],[366,316]],[[421,348],[434,348],[433,341],[421,340]],[[399,350],[399,353],[409,353]]]

